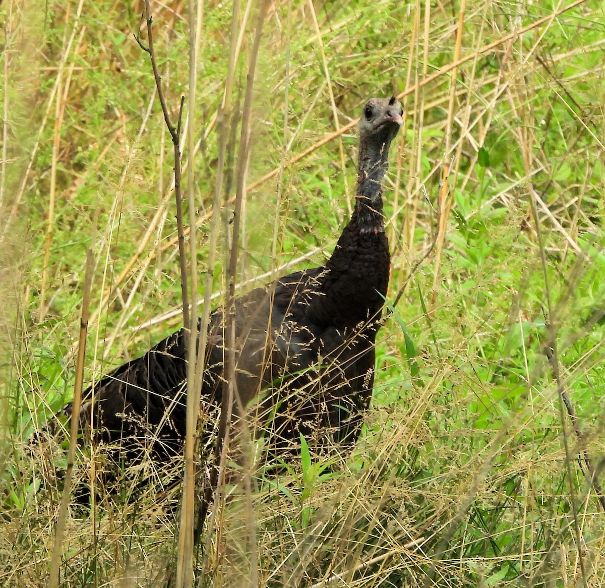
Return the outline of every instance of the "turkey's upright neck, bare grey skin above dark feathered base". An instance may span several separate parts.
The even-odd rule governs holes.
[[[390,272],[381,186],[389,146],[390,140],[359,144],[355,210],[325,264],[322,295],[310,302],[308,316],[317,325],[333,325],[341,332],[360,324],[374,333],[378,328]]]

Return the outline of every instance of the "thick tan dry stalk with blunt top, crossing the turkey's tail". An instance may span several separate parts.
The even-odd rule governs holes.
[[[63,537],[65,534],[65,524],[67,523],[67,508],[71,494],[71,478],[73,475],[74,458],[76,457],[77,436],[80,426],[80,404],[82,402],[82,382],[84,379],[84,364],[86,352],[86,336],[88,332],[88,316],[90,309],[90,292],[93,284],[94,272],[94,235],[91,246],[88,247],[86,256],[86,272],[84,275],[84,285],[82,292],[82,315],[80,318],[80,336],[76,362],[76,379],[74,382],[74,399],[72,403],[72,412],[70,420],[70,445],[67,452],[67,468],[65,470],[65,479],[61,502],[59,505],[59,515],[54,531],[53,554],[50,561],[50,578],[48,580],[49,588],[59,586],[59,568],[61,563],[61,550],[63,546]]]

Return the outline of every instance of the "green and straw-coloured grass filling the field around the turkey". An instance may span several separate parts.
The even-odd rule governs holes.
[[[69,2],[0,7],[7,31],[0,55],[7,137],[0,194],[3,586],[47,582],[66,444],[60,435],[30,440],[73,395],[95,227],[85,384],[180,325],[179,316],[162,318],[180,304],[172,145],[157,97],[146,114],[154,82],[133,38],[142,7],[127,4],[85,2],[79,18]],[[460,56],[561,7],[468,2]],[[321,264],[355,189],[352,132],[342,137],[344,169],[339,139],[290,165],[335,123],[309,4],[273,8],[257,70],[248,181],[284,170],[247,196],[243,291],[301,255],[310,253],[281,273]],[[187,10],[177,2],[152,10],[175,116],[187,93]],[[431,8],[426,40],[424,5],[326,2],[315,10],[340,126],[358,116],[367,97],[406,90],[410,60],[410,85],[453,62],[458,2]],[[204,4],[196,141],[209,132],[192,162],[198,218],[212,208],[213,116],[223,96],[230,23],[228,3]],[[251,28],[237,63],[237,108]],[[581,451],[603,470],[604,44],[603,7],[586,1],[466,61],[451,108],[451,72],[405,99],[407,129],[401,151],[391,151],[385,183],[393,252],[388,304],[433,243],[442,169],[451,163],[443,247],[420,264],[379,335],[373,403],[352,456],[327,467],[303,451],[280,477],[258,474],[251,494],[232,489],[218,512],[220,533],[204,538],[201,585],[603,586],[605,518]],[[183,160],[191,165],[186,152]],[[233,162],[227,157],[231,178]],[[543,202],[537,218],[532,194]],[[11,217],[13,204],[18,214]],[[221,212],[215,305],[226,283],[230,214]],[[117,283],[148,230],[140,256]],[[205,221],[197,232],[201,272],[208,231]],[[581,443],[561,407],[544,351],[549,342],[557,345]],[[82,451],[76,477],[87,476],[90,462]],[[169,505],[178,488],[163,500],[155,490],[139,489],[135,500],[108,498],[90,512],[71,506],[62,586],[163,585],[177,546],[178,517]]]

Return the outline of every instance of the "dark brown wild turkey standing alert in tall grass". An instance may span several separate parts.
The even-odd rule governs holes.
[[[277,454],[296,451],[300,434],[318,453],[346,448],[359,435],[390,270],[381,181],[401,115],[394,97],[365,103],[355,211],[325,266],[284,276],[235,301],[235,387]],[[221,309],[212,313],[208,330],[201,398],[213,415],[206,420],[209,436],[223,387]],[[160,460],[173,456],[185,435],[185,358],[181,328],[90,387],[81,425],[92,422],[97,439],[118,442],[130,457],[141,451]]]

